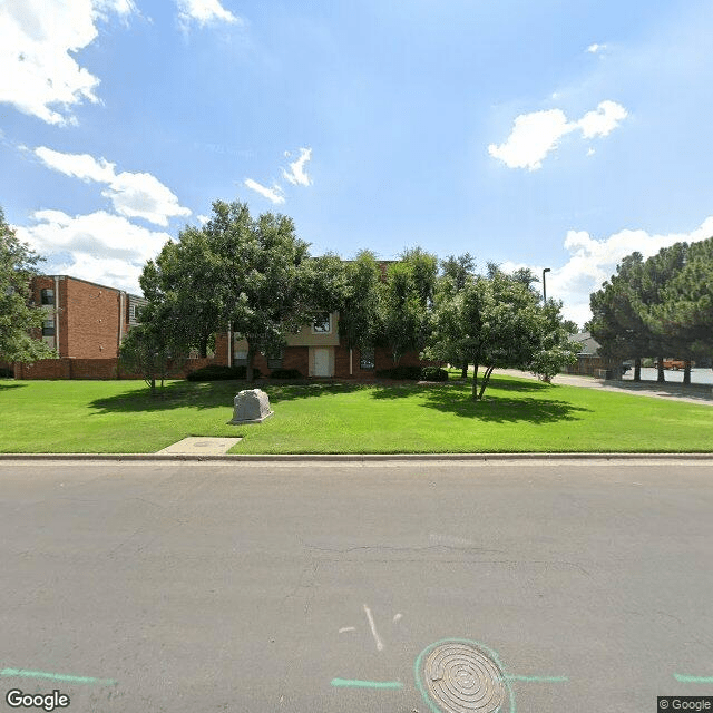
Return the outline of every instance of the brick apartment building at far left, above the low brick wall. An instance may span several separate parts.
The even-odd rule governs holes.
[[[146,304],[138,295],[68,275],[38,275],[30,290],[46,313],[41,339],[60,358],[117,358],[121,339],[138,324]]]

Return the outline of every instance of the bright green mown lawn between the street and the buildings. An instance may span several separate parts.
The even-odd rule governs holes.
[[[0,452],[155,452],[241,436],[233,453],[713,451],[713,408],[494,375],[470,383],[257,384],[275,414],[229,426],[242,381],[0,380]]]

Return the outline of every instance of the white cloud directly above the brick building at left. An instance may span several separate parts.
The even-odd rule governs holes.
[[[18,237],[48,261],[47,273],[70,274],[140,294],[138,277],[146,261],[170,240],[118,215],[98,211],[70,216],[61,211],[38,211],[33,224],[18,226]]]

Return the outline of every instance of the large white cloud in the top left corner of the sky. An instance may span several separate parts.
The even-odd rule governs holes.
[[[0,104],[48,124],[75,123],[70,107],[97,102],[99,79],[76,55],[98,36],[96,21],[128,16],[131,0],[0,2]]]

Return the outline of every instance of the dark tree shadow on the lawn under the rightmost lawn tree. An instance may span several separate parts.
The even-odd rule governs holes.
[[[475,401],[470,394],[465,394],[462,391],[432,390],[427,393],[423,406],[461,418],[495,423],[578,421],[582,419],[582,413],[590,412],[590,409],[574,406],[568,401],[534,397],[511,399],[488,395],[487,391],[484,401]]]

